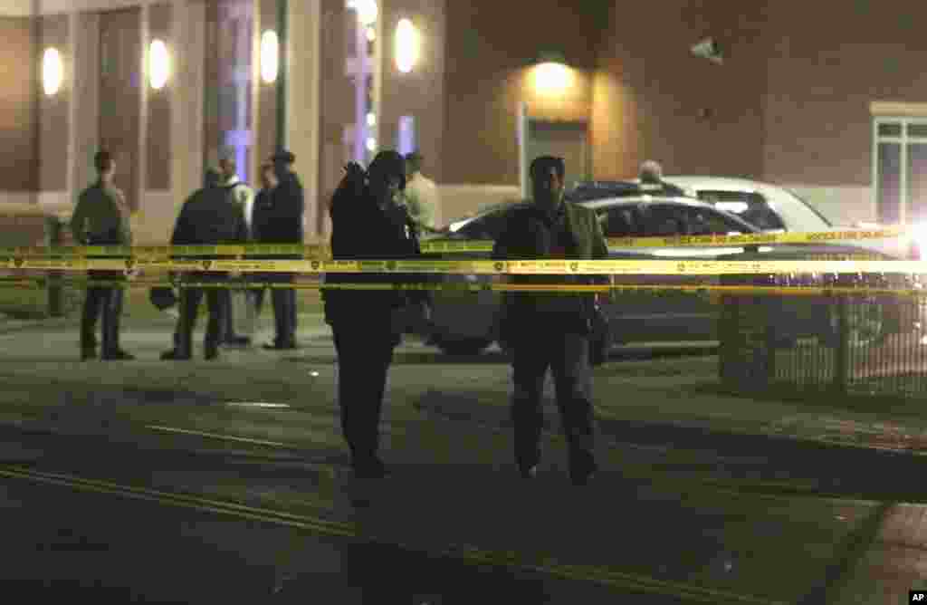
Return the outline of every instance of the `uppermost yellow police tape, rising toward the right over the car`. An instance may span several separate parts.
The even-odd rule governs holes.
[[[860,241],[897,238],[910,233],[903,226],[869,230],[748,233],[740,235],[675,236],[667,238],[608,238],[610,248],[704,248],[711,246],[748,246],[758,244],[814,244],[833,241]],[[491,240],[431,239],[422,242],[422,251],[486,252]],[[331,258],[326,244],[236,244],[220,246],[30,246],[0,248],[0,257],[45,256],[115,256],[166,259],[170,256],[242,256],[253,254],[298,255],[309,260]]]

